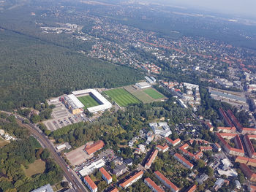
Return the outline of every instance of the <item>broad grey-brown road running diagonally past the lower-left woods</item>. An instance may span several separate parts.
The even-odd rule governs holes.
[[[10,114],[9,112],[6,112],[8,114]],[[72,188],[75,189],[75,191],[86,191],[89,192],[85,186],[80,183],[80,179],[78,178],[77,175],[75,175],[71,169],[68,169],[67,164],[65,163],[65,161],[59,156],[59,154],[56,152],[55,148],[53,147],[53,145],[51,145],[48,137],[45,136],[45,134],[40,133],[39,130],[32,125],[31,123],[29,124],[23,124],[23,120],[25,118],[21,118],[18,115],[15,115],[17,118],[17,123],[20,124],[20,126],[25,126],[26,128],[29,129],[29,131],[31,132],[31,134],[42,144],[44,145],[45,148],[47,148],[50,152],[50,154],[52,155],[52,157],[54,158],[54,160],[56,161],[57,164],[59,164],[59,166],[61,167],[61,169],[64,172],[64,176],[67,178],[67,181],[69,183],[72,183]]]

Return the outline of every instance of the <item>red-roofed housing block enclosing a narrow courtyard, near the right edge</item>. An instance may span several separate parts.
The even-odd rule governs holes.
[[[241,139],[238,134],[217,133],[216,135],[219,138],[222,144],[222,147],[225,149],[225,151],[228,154],[244,156],[244,147],[241,143]],[[225,139],[233,139],[233,138],[237,148],[230,147],[230,145],[225,140]]]

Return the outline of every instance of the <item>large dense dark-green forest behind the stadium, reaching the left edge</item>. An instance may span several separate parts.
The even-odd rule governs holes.
[[[129,85],[142,78],[133,69],[3,29],[0,55],[1,110],[33,107],[70,91]]]

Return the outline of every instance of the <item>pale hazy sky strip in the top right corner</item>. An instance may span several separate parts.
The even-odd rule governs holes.
[[[161,0],[157,0],[161,2]],[[256,0],[162,0],[169,4],[203,8],[235,15],[256,18]]]

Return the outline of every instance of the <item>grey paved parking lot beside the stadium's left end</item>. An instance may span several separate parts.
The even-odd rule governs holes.
[[[52,99],[51,101],[48,101],[48,104],[54,104],[56,106],[51,114],[52,119],[45,120],[43,122],[50,131],[55,131],[58,128],[68,126],[72,123],[78,123],[82,120],[86,120],[81,115],[72,115],[72,113],[69,112],[67,107],[65,107],[59,99]]]

